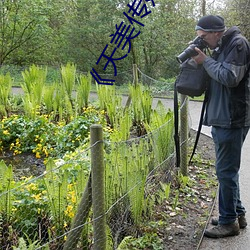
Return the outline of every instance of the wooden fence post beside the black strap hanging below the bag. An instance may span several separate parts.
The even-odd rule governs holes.
[[[188,174],[188,97],[181,96],[180,109],[180,168],[181,174],[187,176]]]

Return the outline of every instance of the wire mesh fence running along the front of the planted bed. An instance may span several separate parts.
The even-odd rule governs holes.
[[[186,105],[187,99],[180,110]],[[128,237],[142,234],[140,223],[154,216],[162,199],[161,184],[171,183],[176,174],[173,134],[170,116],[141,137],[118,142],[98,137],[73,159],[48,159],[43,174],[19,180],[1,161],[1,249],[119,249]],[[102,172],[93,173],[93,166],[102,160],[103,184],[102,177],[93,181]],[[103,205],[104,212],[96,215]]]

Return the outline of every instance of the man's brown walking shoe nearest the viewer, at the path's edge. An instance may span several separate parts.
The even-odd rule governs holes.
[[[234,222],[232,224],[218,224],[215,227],[210,229],[206,229],[204,235],[209,238],[223,238],[228,236],[239,235],[240,227],[238,222]]]

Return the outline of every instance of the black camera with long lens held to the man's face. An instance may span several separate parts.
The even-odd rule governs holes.
[[[199,48],[200,50],[203,50],[207,48],[207,43],[199,36],[197,36],[191,43],[190,45],[180,54],[178,55],[177,61],[179,63],[183,63],[186,61],[188,58],[193,57],[198,55],[196,50],[194,49],[195,47]]]

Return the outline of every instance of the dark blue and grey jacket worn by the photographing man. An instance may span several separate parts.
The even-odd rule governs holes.
[[[250,45],[237,27],[227,30],[203,66],[211,81],[204,125],[250,126]]]

